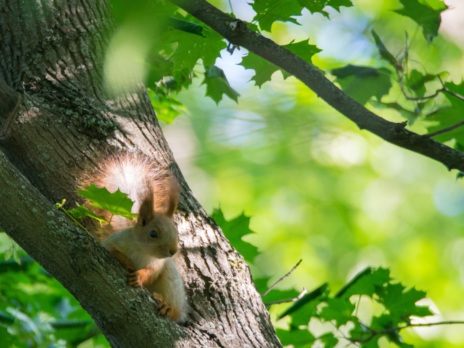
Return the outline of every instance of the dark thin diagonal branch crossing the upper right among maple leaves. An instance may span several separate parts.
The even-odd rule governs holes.
[[[418,135],[404,128],[401,123],[389,122],[348,97],[329,79],[322,76],[314,66],[295,54],[277,45],[270,39],[253,32],[239,19],[233,19],[206,0],[170,0],[206,25],[213,28],[233,45],[245,47],[248,51],[276,64],[313,90],[335,110],[392,144],[425,155],[443,163],[446,168],[464,171],[464,153],[450,148],[429,137]],[[229,23],[237,21],[237,26]]]

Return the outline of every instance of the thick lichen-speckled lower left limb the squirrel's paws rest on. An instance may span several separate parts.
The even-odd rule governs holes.
[[[1,151],[0,187],[3,230],[71,289],[112,347],[174,347],[192,335],[155,314],[148,292],[126,285],[126,271],[110,253],[46,200]]]

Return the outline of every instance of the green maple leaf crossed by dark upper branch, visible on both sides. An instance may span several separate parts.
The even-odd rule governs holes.
[[[294,40],[292,40],[290,44],[283,45],[282,47],[296,54],[309,64],[312,64],[311,57],[322,51],[317,48],[316,45],[309,45],[309,39],[295,43],[293,41]],[[261,88],[264,82],[271,81],[272,74],[277,70],[282,72],[284,79],[291,76],[287,71],[251,52],[248,52],[248,55],[243,57],[242,62],[238,65],[242,65],[245,69],[253,69],[255,71],[255,75],[251,77],[250,81],[255,81],[255,85],[259,86],[259,88]]]

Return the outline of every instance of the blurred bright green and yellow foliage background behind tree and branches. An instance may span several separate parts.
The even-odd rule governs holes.
[[[438,0],[428,2],[433,1]],[[211,2],[230,12],[228,1]],[[304,10],[297,18],[301,26],[276,22],[272,33],[264,35],[280,45],[309,38],[322,49],[313,63],[330,71],[348,63],[382,66],[370,30],[393,53],[404,48],[406,30],[412,59],[430,73],[449,71],[459,84],[464,2],[445,2],[450,9],[442,13],[440,35],[432,44],[411,19],[391,11],[401,7],[393,0],[354,0],[354,7],[341,7],[340,13],[326,8],[330,20]],[[238,18],[251,21],[255,13],[245,0],[231,4]],[[271,277],[271,285],[301,258],[302,264],[277,288],[311,290],[329,281],[337,290],[367,265],[389,267],[403,284],[427,291],[423,304],[436,313],[429,322],[464,320],[464,183],[456,180],[456,172],[360,131],[295,78],[284,80],[280,71],[259,89],[247,82],[254,71],[236,65],[245,49],[221,54],[216,65],[240,93],[238,104],[224,97],[217,106],[204,97],[206,86],[197,78],[174,96],[185,107],[183,115],[160,123],[206,212],[220,206],[226,219],[242,212],[251,216],[250,228],[256,233],[243,239],[260,251],[250,264],[253,277]],[[201,76],[200,63],[196,71]],[[395,101],[399,92],[393,88],[383,101]],[[404,121],[393,110],[375,112]],[[419,120],[410,128],[423,134],[427,125]],[[0,234],[0,252],[10,246]],[[47,332],[40,323],[50,316],[89,319],[37,264],[23,266],[22,272],[10,266],[0,270],[0,310],[10,308],[13,314],[28,303],[22,313],[32,323],[24,322],[38,332]],[[273,320],[285,306],[271,307]],[[363,299],[359,315],[369,318],[375,310]],[[26,324],[18,327],[22,334],[0,328],[0,336],[29,332],[34,337],[37,332]],[[275,325],[287,324],[283,319]],[[315,334],[326,330],[318,322],[311,322],[310,329]],[[416,347],[464,346],[464,326],[408,329],[403,334]],[[11,337],[0,339],[0,347],[16,344]],[[388,347],[386,341],[380,343]],[[106,343],[89,340],[79,347],[98,344]]]

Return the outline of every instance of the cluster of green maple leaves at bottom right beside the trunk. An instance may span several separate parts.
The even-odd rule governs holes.
[[[424,291],[406,289],[393,281],[389,273],[385,268],[367,267],[332,296],[329,295],[328,284],[322,284],[277,316],[277,319],[284,316],[291,318],[290,329],[276,329],[277,336],[283,345],[293,344],[296,348],[310,347],[316,341],[326,348],[334,347],[341,336],[340,327],[351,323],[348,335],[343,337],[348,342],[377,348],[378,340],[386,337],[399,347],[412,347],[402,341],[400,330],[411,325],[412,316],[425,317],[433,313],[428,306],[416,304],[425,297]],[[379,316],[372,317],[369,324],[361,322],[357,316],[361,296],[367,296],[384,308]],[[318,337],[312,335],[308,326],[311,318],[331,322],[333,332]],[[339,336],[335,336],[337,333]],[[319,346],[320,343],[317,344]]]

